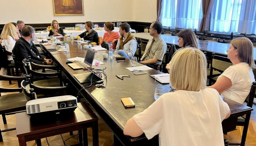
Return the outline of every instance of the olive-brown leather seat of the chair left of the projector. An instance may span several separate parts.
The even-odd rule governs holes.
[[[7,94],[0,97],[0,111],[26,106],[27,100],[23,93]]]

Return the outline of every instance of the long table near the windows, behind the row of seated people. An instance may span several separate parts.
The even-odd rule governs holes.
[[[140,38],[142,40],[148,41],[152,36],[149,35],[149,33],[133,33],[133,35],[136,38]],[[168,45],[176,45],[179,46],[178,41],[178,36],[171,36],[171,35],[161,35],[163,40],[166,42]],[[227,56],[227,50],[229,48],[228,43],[218,43],[218,42],[210,42],[210,41],[202,41],[202,40],[197,40],[198,47],[200,50],[203,52],[207,52],[208,56],[211,55],[212,53],[215,53],[220,56]],[[256,60],[256,48],[254,47],[254,60]]]

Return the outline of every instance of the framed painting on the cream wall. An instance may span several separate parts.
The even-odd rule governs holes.
[[[83,0],[53,0],[54,16],[84,15]]]

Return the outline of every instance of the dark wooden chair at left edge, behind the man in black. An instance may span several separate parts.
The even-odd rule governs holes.
[[[5,49],[5,46],[0,45],[0,68],[6,68],[7,69],[7,75],[11,76],[11,69],[12,73],[14,74],[14,64],[11,64],[11,62],[8,60],[7,55],[11,55],[12,53],[7,52]],[[11,80],[9,80],[9,84],[11,84]]]

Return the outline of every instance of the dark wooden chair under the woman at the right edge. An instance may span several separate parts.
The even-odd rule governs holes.
[[[254,100],[254,95],[255,95],[255,89],[256,89],[256,81],[254,81],[253,85],[251,85],[250,93],[249,93],[249,95],[247,96],[247,98],[245,100],[245,102],[247,103],[247,106],[249,106],[251,108],[253,107],[253,100]],[[249,121],[250,121],[250,116],[251,116],[251,113],[246,114],[246,117],[244,117],[244,116],[238,117],[236,126],[243,126],[243,129],[248,129],[248,127],[249,127],[248,125],[249,125]],[[245,131],[245,133],[247,133],[247,130]],[[243,136],[245,136],[245,138],[246,138],[246,134],[245,135],[243,134]],[[228,143],[227,139],[224,139],[224,143],[225,143],[225,146],[228,146],[228,145],[241,145],[239,143]]]

